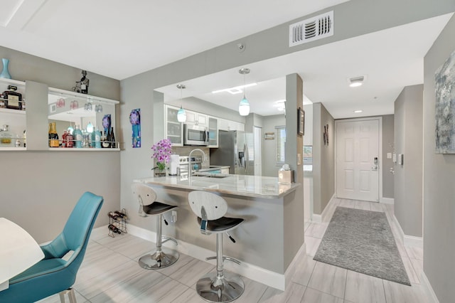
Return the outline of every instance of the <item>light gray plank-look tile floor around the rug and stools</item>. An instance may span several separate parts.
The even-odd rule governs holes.
[[[336,206],[386,213],[412,287],[313,260]],[[403,245],[392,220],[392,205],[333,199],[327,207],[322,223],[306,224],[307,255],[296,260],[296,270],[286,291],[243,278],[245,292],[235,302],[427,302],[419,281],[422,250]],[[137,259],[149,252],[152,245],[133,235],[110,238],[107,233],[95,230],[74,285],[77,302],[205,302],[194,287],[201,275],[215,267],[181,255],[171,267],[144,270],[137,265]],[[60,302],[60,299],[54,295],[40,302]]]

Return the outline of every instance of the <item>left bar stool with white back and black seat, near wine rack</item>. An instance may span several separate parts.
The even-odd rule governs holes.
[[[139,216],[158,216],[156,218],[156,252],[140,257],[139,265],[146,270],[159,270],[160,268],[168,267],[178,260],[179,255],[176,250],[168,250],[167,248],[162,248],[161,245],[168,240],[171,240],[176,245],[178,243],[176,239],[162,235],[161,221],[163,220],[163,213],[172,211],[177,206],[156,201],[155,191],[145,184],[134,183],[132,189],[134,197],[139,202]],[[166,219],[164,219],[164,223],[168,225]]]

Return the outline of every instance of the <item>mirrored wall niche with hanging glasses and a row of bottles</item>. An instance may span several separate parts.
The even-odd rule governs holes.
[[[119,142],[114,139],[116,129],[115,105],[119,101],[53,87],[49,87],[47,98],[46,117],[48,121],[46,127],[55,122],[55,130],[59,138],[58,141],[53,139],[48,142],[48,147],[63,147],[68,143],[63,141],[63,134],[68,129],[73,128],[74,130],[80,129],[81,132],[80,138],[77,138],[77,134],[73,131],[74,147],[80,147],[80,150],[100,150],[96,147],[109,147],[109,150],[119,150]],[[113,136],[110,134],[112,130],[114,131]],[[97,144],[98,141],[100,142]],[[53,146],[53,144],[56,145]],[[70,150],[74,149],[78,148]]]

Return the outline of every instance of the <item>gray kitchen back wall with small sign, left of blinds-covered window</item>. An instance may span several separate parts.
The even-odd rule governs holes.
[[[285,126],[286,117],[284,115],[273,115],[264,117],[264,128],[262,128],[262,176],[278,176],[278,169],[281,165],[277,165],[277,131],[275,127]],[[275,139],[265,140],[266,132],[273,132]]]

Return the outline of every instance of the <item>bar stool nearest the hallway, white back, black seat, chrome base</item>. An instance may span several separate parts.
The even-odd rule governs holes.
[[[203,299],[209,302],[231,302],[243,293],[245,285],[238,275],[223,272],[223,261],[230,260],[237,264],[240,261],[223,256],[223,233],[237,228],[244,220],[242,218],[224,217],[228,211],[228,203],[215,193],[208,191],[191,191],[188,193],[188,202],[191,210],[198,216],[200,233],[203,235],[216,234],[216,274],[208,273],[196,283],[196,291]],[[228,234],[230,240],[235,240]]]

